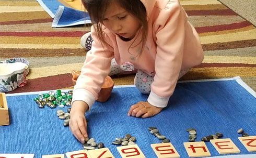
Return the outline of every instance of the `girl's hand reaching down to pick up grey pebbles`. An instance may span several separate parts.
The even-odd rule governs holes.
[[[74,101],[72,104],[69,120],[69,128],[73,135],[81,143],[85,142],[88,138],[87,135],[87,122],[85,119],[85,112],[89,109],[89,106],[84,101]]]

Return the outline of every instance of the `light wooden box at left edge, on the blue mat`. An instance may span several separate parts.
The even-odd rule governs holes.
[[[0,93],[0,126],[9,125],[9,112],[4,93]]]

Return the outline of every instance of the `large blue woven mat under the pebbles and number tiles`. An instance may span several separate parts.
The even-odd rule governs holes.
[[[243,85],[243,86],[241,86]],[[249,93],[249,91],[250,93]],[[63,121],[56,116],[56,109],[39,109],[33,101],[37,95],[8,95],[10,125],[0,126],[0,153],[34,153],[35,157],[82,150]],[[150,147],[160,143],[148,131],[155,126],[171,140],[181,157],[188,157],[183,142],[188,141],[185,129],[197,129],[196,141],[217,131],[230,138],[241,150],[248,152],[238,140],[237,129],[243,128],[249,135],[256,135],[255,92],[239,77],[224,81],[179,83],[160,114],[149,119],[126,116],[130,106],[146,100],[135,87],[114,88],[111,98],[96,102],[87,113],[88,133],[97,142],[104,142],[115,157],[121,157],[117,146],[111,142],[117,137],[131,134],[146,157],[156,157]],[[212,156],[220,156],[210,142],[206,142]],[[230,154],[225,154],[230,155]],[[255,156],[255,155],[254,155]]]

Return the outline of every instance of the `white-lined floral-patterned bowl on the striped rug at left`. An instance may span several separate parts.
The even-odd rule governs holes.
[[[23,58],[0,61],[0,91],[8,92],[27,84],[29,62]]]

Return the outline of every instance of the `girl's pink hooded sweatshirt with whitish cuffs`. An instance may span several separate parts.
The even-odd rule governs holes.
[[[147,101],[164,108],[176,87],[179,72],[200,64],[204,58],[199,36],[188,22],[178,0],[141,0],[147,10],[148,36],[144,50],[141,38],[125,42],[107,28],[103,29],[108,45],[103,48],[94,27],[92,48],[87,52],[82,73],[74,87],[72,102],[85,101],[89,108],[97,99],[104,78],[110,72],[111,60],[118,64],[131,62],[136,69],[154,76]],[[134,42],[134,43],[133,43]],[[141,52],[141,55],[138,55]]]

